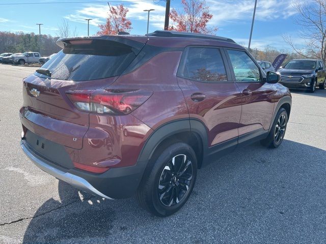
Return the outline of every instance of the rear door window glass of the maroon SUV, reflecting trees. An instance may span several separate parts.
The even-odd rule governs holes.
[[[184,78],[203,82],[227,81],[220,49],[191,47],[183,70]]]

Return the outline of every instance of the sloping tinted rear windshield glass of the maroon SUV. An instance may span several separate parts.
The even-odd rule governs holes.
[[[91,44],[68,44],[42,68],[51,72],[52,79],[95,80],[120,75],[134,58],[132,47],[128,45],[93,40]]]

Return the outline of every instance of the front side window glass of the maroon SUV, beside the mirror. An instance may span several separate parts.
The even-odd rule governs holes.
[[[228,50],[236,81],[261,81],[257,65],[244,51]]]

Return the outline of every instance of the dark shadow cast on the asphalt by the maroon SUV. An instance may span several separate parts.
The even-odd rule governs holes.
[[[159,242],[166,243],[181,232],[188,243],[266,243],[274,236],[283,243],[318,242],[325,238],[325,156],[325,150],[289,140],[278,149],[259,143],[239,148],[201,169],[187,204],[165,219],[145,212],[134,198],[104,200],[59,181],[60,201],[40,206],[23,243],[153,243],[162,232],[167,239]]]

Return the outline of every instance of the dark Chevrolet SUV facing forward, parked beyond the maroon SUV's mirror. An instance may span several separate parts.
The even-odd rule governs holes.
[[[316,86],[326,86],[326,70],[321,59],[292,59],[278,71],[281,82],[291,89],[306,89],[315,92]]]

